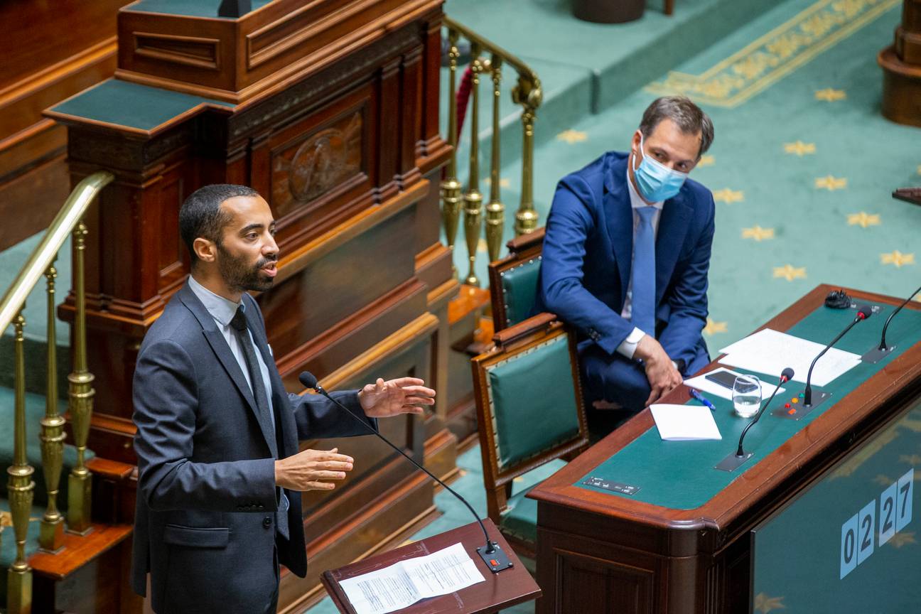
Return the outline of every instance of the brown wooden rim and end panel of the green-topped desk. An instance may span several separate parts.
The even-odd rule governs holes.
[[[787,330],[798,324],[822,305],[832,289],[817,287],[765,327]],[[887,296],[848,292],[880,305],[901,303]],[[912,303],[905,308],[916,312],[921,305]],[[872,323],[872,330],[881,330],[885,315],[869,319],[866,325]],[[904,315],[896,316],[892,326]],[[838,331],[829,330],[827,340]],[[838,346],[856,351],[846,347],[847,339]],[[893,341],[890,337],[889,342]],[[921,343],[904,345],[908,348],[904,353],[827,410],[818,413],[821,407],[817,408],[818,415],[804,418],[798,433],[763,458],[753,458],[752,467],[694,509],[672,509],[576,485],[653,429],[649,411],[637,414],[543,481],[529,495],[539,502],[537,565],[543,597],[537,612],[751,611],[752,528],[807,491],[838,461],[864,446],[921,398]],[[705,370],[712,368],[715,364]],[[857,368],[867,367],[855,371]],[[788,387],[799,390],[802,385],[791,382]],[[683,403],[687,398],[687,389],[681,387],[664,402]],[[768,411],[775,407],[776,400]],[[772,416],[765,414],[764,419],[769,418]],[[763,425],[764,420],[752,432]],[[723,436],[721,443],[729,454],[737,440],[725,431]],[[750,440],[753,443],[751,434],[746,438],[747,449]],[[648,458],[648,463],[650,475],[671,475],[664,463],[657,464],[657,458]],[[703,462],[694,469],[715,470],[712,463]],[[681,492],[682,483],[676,482],[674,488]]]

